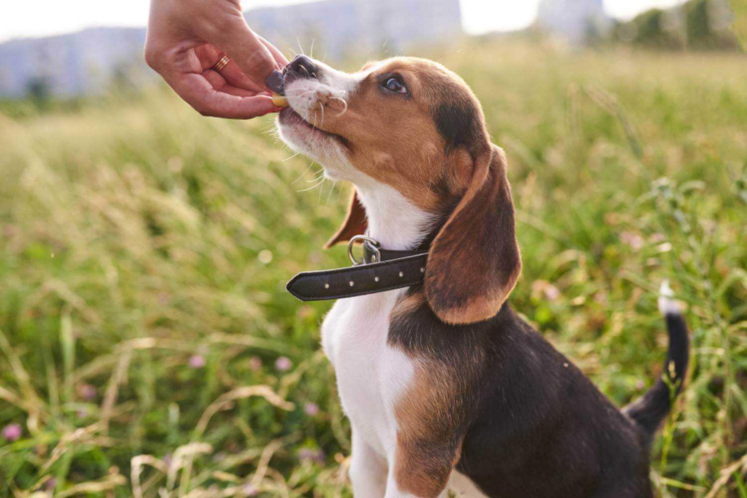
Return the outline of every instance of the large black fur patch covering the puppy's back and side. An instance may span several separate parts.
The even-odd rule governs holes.
[[[388,343],[453,379],[461,399],[448,409],[463,435],[456,470],[487,496],[653,496],[642,429],[509,305],[448,326],[423,303],[392,320]],[[452,436],[434,433],[433,446]]]

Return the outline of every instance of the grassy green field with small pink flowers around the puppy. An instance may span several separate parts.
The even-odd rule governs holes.
[[[623,405],[660,375],[669,279],[692,365],[657,495],[747,497],[745,56],[425,55],[509,157],[514,308]],[[29,106],[0,113],[0,496],[350,496],[329,303],[284,290],[347,264],[320,248],[348,187],[317,185],[270,117],[168,90]]]

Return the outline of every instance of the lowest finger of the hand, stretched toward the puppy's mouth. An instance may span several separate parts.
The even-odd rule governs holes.
[[[182,99],[203,116],[249,119],[276,111],[273,99],[266,95],[237,96],[215,90],[205,77],[185,73],[167,83]]]

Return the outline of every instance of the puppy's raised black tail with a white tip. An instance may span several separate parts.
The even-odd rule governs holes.
[[[642,429],[648,442],[651,441],[654,432],[672,408],[672,401],[682,390],[687,371],[689,358],[687,326],[680,306],[672,299],[673,295],[669,282],[663,281],[659,290],[659,311],[666,320],[669,350],[666,354],[662,376],[647,393],[623,408],[623,412]]]

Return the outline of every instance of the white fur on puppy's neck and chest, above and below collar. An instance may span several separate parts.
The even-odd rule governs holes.
[[[415,246],[430,227],[430,215],[397,190],[374,187],[373,178],[365,183],[359,194],[368,213],[368,234],[388,249]],[[412,382],[415,361],[387,343],[389,316],[403,292],[339,299],[322,324],[322,346],[335,367],[342,408],[353,426],[350,479],[356,497],[382,497],[387,482],[385,496],[406,496],[397,494],[389,470],[397,449],[394,406]]]

